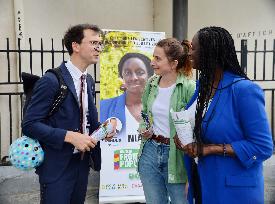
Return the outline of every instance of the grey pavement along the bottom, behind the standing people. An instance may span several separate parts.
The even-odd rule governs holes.
[[[264,162],[265,204],[275,204],[275,155]],[[85,204],[98,204],[99,172],[92,171]],[[34,171],[0,166],[0,204],[38,204],[39,183]]]

